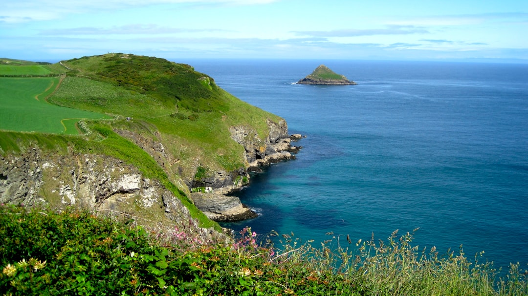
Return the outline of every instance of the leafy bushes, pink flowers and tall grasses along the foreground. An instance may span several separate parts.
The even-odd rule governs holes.
[[[248,228],[230,245],[206,245],[182,229],[2,206],[0,235],[6,295],[528,295],[518,264],[497,279],[478,256],[419,252],[409,233],[353,251],[339,237],[317,249],[289,235],[280,249],[261,247]]]

